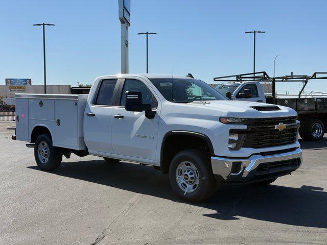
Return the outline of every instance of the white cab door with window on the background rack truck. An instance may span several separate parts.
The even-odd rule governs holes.
[[[260,86],[260,87],[259,87]],[[251,101],[266,103],[266,97],[259,83],[245,83],[233,92],[233,99],[237,101]]]

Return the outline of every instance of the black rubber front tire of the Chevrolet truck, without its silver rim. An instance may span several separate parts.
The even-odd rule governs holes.
[[[193,192],[182,190],[182,187],[180,187],[182,185],[179,185],[177,182],[177,167],[183,162],[191,162],[196,167],[198,185],[196,185]],[[173,157],[169,166],[169,181],[173,191],[180,199],[195,203],[203,201],[213,194],[216,187],[216,180],[209,162],[209,157],[198,150],[184,150]],[[180,176],[185,181],[185,175],[181,174]]]

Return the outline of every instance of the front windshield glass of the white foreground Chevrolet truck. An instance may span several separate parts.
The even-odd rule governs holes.
[[[197,79],[153,78],[150,81],[166,100],[175,103],[227,100],[207,83]]]

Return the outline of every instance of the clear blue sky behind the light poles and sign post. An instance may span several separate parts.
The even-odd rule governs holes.
[[[91,83],[100,75],[120,72],[118,0],[0,1],[0,83],[31,78],[43,83],[42,28],[46,28],[49,84]],[[145,36],[151,73],[186,75],[207,83],[215,76],[251,72],[253,34],[257,35],[256,70],[272,76],[327,71],[327,1],[131,0],[129,71],[145,72]],[[298,83],[277,91],[299,90]],[[306,91],[327,92],[327,81]]]

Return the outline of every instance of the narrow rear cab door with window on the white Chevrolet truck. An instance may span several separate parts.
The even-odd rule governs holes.
[[[90,94],[84,114],[84,141],[90,154],[113,153],[111,144],[112,108],[120,79],[103,79]],[[105,154],[104,154],[105,155]]]

